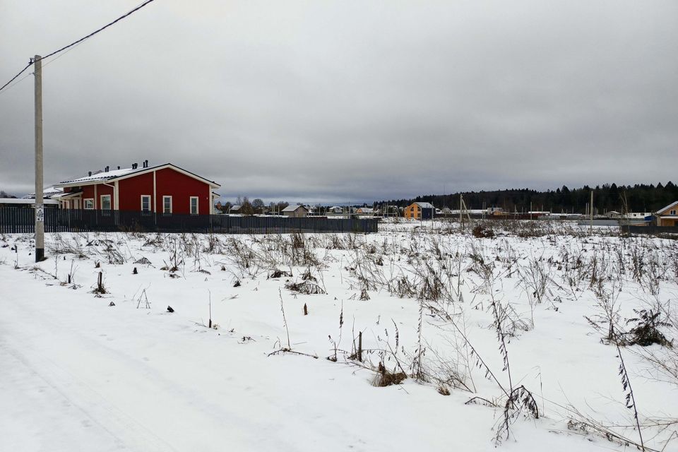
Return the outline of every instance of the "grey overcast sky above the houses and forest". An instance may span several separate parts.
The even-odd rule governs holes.
[[[0,1],[0,85],[141,0]],[[678,182],[678,2],[156,0],[44,61],[44,180],[172,162],[265,201]],[[28,73],[28,72],[27,72]],[[33,78],[0,93],[32,191]]]

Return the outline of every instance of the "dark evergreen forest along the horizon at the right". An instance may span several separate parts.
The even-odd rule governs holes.
[[[553,213],[585,213],[590,201],[591,187],[588,185],[580,189],[569,189],[562,186],[560,189],[537,191],[530,189],[506,189],[494,191],[467,191],[462,193],[464,202],[469,209],[489,207],[504,208],[507,212],[527,212],[530,210],[549,210]],[[432,203],[436,208],[459,208],[459,193],[446,195],[422,195],[411,199],[396,199],[380,201],[388,205],[399,207],[409,206],[416,201]],[[597,213],[609,210],[622,212],[626,206],[629,212],[656,212],[668,204],[678,201],[678,186],[672,182],[665,185],[636,184],[620,185],[605,184],[593,189],[593,207]]]

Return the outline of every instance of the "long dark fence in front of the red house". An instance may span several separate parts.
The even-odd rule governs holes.
[[[287,232],[376,232],[369,218],[236,217],[142,213],[129,210],[45,209],[44,232],[218,232],[224,234],[284,234]],[[0,232],[32,233],[35,210],[0,207]]]

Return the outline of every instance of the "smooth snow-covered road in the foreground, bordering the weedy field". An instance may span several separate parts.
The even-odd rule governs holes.
[[[374,388],[345,364],[267,357],[275,338],[256,331],[242,343],[182,309],[53,283],[0,266],[0,451],[494,449],[496,413],[464,405],[468,393]],[[600,450],[540,422],[501,449]]]

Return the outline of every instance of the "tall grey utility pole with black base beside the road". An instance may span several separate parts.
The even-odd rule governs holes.
[[[35,55],[35,262],[44,260],[44,201],[42,200],[42,57]]]

